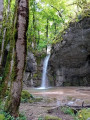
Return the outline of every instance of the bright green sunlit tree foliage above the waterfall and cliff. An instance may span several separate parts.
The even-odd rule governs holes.
[[[90,14],[89,0],[37,0],[30,1],[28,47],[42,51],[48,44],[56,44],[55,36],[62,34],[70,21],[79,21],[78,16]],[[48,19],[48,37],[47,34]],[[44,49],[45,50],[45,49]]]

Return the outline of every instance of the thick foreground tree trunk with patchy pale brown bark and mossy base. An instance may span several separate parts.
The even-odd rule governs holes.
[[[18,117],[22,91],[22,80],[26,56],[26,31],[28,23],[28,0],[18,0],[17,39],[15,43],[15,61],[12,73],[11,94],[7,99],[5,110]]]

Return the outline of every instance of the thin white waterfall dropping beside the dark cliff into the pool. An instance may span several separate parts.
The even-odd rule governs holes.
[[[48,78],[47,78],[47,67],[48,67],[48,61],[50,58],[50,54],[48,54],[43,63],[43,73],[42,73],[42,83],[41,83],[41,88],[45,89],[48,87]]]

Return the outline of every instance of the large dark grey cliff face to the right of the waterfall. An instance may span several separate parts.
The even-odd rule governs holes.
[[[90,86],[90,17],[70,24],[49,63],[54,85]]]

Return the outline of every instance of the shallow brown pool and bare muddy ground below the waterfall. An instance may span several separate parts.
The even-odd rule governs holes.
[[[90,87],[60,87],[46,90],[27,88],[34,97],[42,97],[43,100],[34,103],[21,103],[20,112],[24,112],[28,120],[39,120],[46,115],[58,116],[62,120],[74,120],[71,115],[65,114],[58,106],[82,106],[90,105]],[[51,109],[56,109],[49,113]]]

